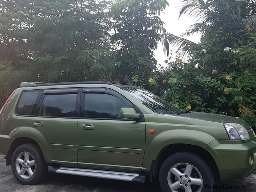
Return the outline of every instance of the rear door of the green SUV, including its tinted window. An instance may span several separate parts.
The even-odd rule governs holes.
[[[80,88],[46,89],[32,126],[47,141],[52,163],[77,165],[77,122]]]

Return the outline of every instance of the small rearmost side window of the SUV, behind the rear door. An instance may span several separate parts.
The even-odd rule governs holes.
[[[39,91],[23,92],[17,106],[17,113],[20,115],[34,115],[38,93]]]

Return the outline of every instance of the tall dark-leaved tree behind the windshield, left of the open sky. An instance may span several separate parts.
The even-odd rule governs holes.
[[[146,79],[156,69],[153,51],[164,33],[163,22],[157,16],[168,5],[166,0],[122,0],[110,10],[113,17],[112,41],[117,51],[120,78]]]

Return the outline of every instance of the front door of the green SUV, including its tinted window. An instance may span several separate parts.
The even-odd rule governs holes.
[[[120,108],[140,113],[110,89],[84,88],[77,126],[78,165],[140,170],[145,149],[145,122],[120,118]]]

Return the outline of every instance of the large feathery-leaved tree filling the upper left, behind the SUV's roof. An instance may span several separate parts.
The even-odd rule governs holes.
[[[0,87],[10,83],[17,87],[23,80],[111,81],[116,64],[109,49],[108,10],[112,4],[111,0],[1,1],[0,66],[4,76],[0,74]],[[21,79],[9,81],[13,78],[9,72],[16,70]]]

